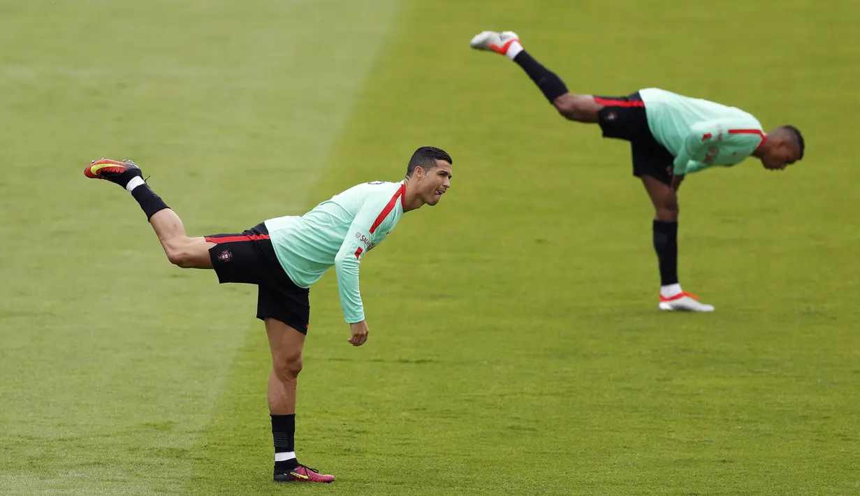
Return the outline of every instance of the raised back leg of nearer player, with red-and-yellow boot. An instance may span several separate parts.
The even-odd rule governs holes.
[[[90,163],[83,169],[83,174],[92,179],[111,181],[132,193],[156,231],[170,263],[182,268],[212,268],[209,248],[215,243],[186,235],[179,216],[144,182],[138,164],[130,160],[119,162],[103,158]]]

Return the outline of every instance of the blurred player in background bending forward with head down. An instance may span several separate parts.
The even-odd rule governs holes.
[[[525,70],[563,117],[599,124],[604,138],[630,142],[633,175],[645,185],[654,217],[654,249],[660,265],[661,310],[710,312],[711,305],[681,289],[678,279],[678,195],[685,175],[715,165],[730,166],[747,156],[765,168],[783,170],[802,159],[803,137],[793,126],[765,134],[759,121],[739,108],[641,89],[632,95],[575,95],[562,79],[525,52],[517,34],[484,31],[472,38],[476,50],[501,53]]]

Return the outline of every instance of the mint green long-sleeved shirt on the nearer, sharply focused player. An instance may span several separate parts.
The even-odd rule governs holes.
[[[270,241],[292,282],[308,288],[335,266],[343,315],[365,320],[359,261],[388,236],[403,215],[403,182],[374,181],[351,187],[301,217],[266,221]]]

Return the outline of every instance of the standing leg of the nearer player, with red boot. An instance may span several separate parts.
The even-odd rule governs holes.
[[[304,334],[276,319],[267,318],[265,322],[272,352],[267,399],[274,441],[273,479],[276,482],[334,481],[333,475],[319,474],[296,458],[296,387],[298,373],[302,371]]]

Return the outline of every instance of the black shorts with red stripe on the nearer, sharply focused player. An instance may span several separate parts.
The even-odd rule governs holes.
[[[218,283],[257,285],[257,318],[273,318],[302,334],[308,332],[310,291],[298,287],[286,275],[274,254],[265,224],[241,234],[215,234],[206,241]]]

